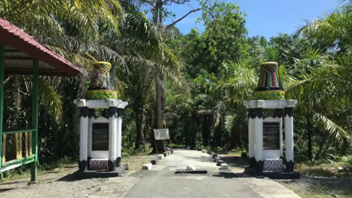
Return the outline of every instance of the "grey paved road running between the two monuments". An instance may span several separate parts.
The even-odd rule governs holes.
[[[215,162],[201,151],[177,150],[153,170],[134,173],[140,181],[126,198],[299,198],[292,191],[269,179],[239,178],[234,173],[219,173]],[[177,168],[193,165],[208,174],[174,174]],[[234,177],[235,176],[235,177]]]

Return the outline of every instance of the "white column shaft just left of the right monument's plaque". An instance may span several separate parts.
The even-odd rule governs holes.
[[[263,161],[263,117],[256,115],[254,118],[255,148],[254,157],[256,161]]]

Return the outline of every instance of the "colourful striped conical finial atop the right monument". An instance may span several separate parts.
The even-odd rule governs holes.
[[[255,100],[285,99],[279,67],[277,62],[264,62],[261,64],[258,87],[254,91]]]

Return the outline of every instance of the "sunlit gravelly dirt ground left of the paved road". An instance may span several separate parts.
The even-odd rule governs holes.
[[[129,163],[130,170],[120,178],[74,180],[70,174],[75,172],[77,165],[66,165],[52,171],[40,172],[37,184],[29,185],[30,176],[0,182],[0,197],[6,198],[103,198],[123,196],[138,178],[126,177],[139,171],[142,165],[149,163],[154,155],[137,155],[122,158],[122,165]],[[26,189],[26,190],[24,190]],[[104,196],[102,196],[104,194]],[[109,197],[109,196],[108,196]]]

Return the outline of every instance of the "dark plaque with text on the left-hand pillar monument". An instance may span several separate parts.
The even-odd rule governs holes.
[[[109,150],[109,123],[93,123],[92,150]]]

